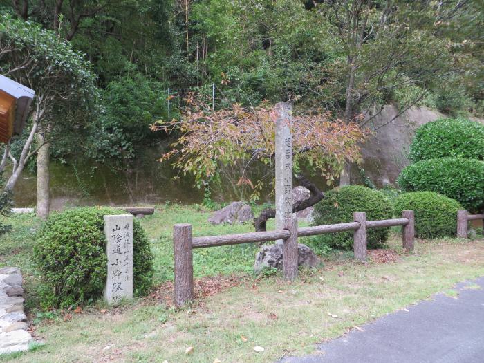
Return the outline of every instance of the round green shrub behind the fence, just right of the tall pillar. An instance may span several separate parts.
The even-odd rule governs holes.
[[[313,224],[325,225],[352,222],[353,212],[366,212],[368,221],[389,219],[393,216],[391,204],[382,192],[360,185],[348,185],[327,192],[326,197],[315,205]],[[388,237],[389,228],[368,230],[368,247],[381,247]],[[353,248],[352,231],[322,234],[318,239],[331,248],[343,250],[351,250]]]

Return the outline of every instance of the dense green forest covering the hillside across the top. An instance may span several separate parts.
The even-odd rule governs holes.
[[[481,0],[1,0],[0,69],[45,94],[82,90],[37,107],[37,168],[76,158],[118,168],[165,142],[150,125],[178,118],[187,95],[214,110],[290,100],[370,128],[384,104],[482,115],[483,9]],[[33,54],[44,68],[17,72]],[[39,74],[57,66],[47,87]],[[9,147],[35,169],[35,153],[22,159],[28,136]]]

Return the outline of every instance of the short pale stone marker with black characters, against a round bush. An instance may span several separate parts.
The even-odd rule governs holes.
[[[108,276],[104,301],[118,304],[133,298],[133,215],[104,216]]]

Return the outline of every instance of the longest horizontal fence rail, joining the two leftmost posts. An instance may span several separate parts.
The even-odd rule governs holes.
[[[288,239],[288,230],[252,232],[241,234],[225,234],[223,236],[205,236],[192,239],[192,248],[214,247],[218,245],[239,245],[241,243],[254,243]]]

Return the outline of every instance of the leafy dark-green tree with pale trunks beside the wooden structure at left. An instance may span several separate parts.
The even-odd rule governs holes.
[[[60,129],[79,130],[90,120],[97,89],[89,68],[89,62],[54,32],[10,15],[0,17],[0,71],[36,93],[21,152],[14,156],[10,145],[4,150],[4,158],[8,155],[12,160],[5,189],[13,189],[28,159],[37,153],[37,215],[41,218],[50,208],[51,137],[59,135]]]

